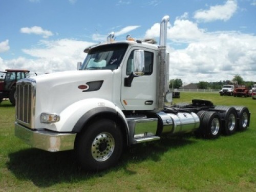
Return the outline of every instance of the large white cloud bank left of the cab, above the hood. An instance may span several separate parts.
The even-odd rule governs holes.
[[[83,61],[86,53],[84,48],[93,45],[92,42],[72,39],[60,39],[56,41],[40,41],[38,48],[24,49],[24,53],[33,56],[33,59],[18,57],[1,61],[1,70],[7,68],[28,69],[37,74],[52,73],[58,71],[76,70],[76,63]],[[3,66],[2,67],[2,63]],[[2,69],[3,68],[3,69]]]

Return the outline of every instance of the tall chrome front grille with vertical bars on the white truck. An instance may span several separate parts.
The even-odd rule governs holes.
[[[33,128],[35,112],[35,81],[23,79],[16,83],[16,120]]]

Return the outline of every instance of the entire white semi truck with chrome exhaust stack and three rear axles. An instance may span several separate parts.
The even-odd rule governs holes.
[[[125,146],[164,135],[214,139],[246,130],[250,112],[245,106],[199,99],[165,106],[171,97],[168,21],[162,18],[159,46],[129,35],[115,41],[111,33],[105,43],[84,50],[87,56],[77,71],[19,80],[16,137],[49,152],[74,150],[83,169],[103,170],[117,164]]]

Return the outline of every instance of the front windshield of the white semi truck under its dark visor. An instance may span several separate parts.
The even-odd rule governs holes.
[[[93,48],[82,63],[81,70],[115,70],[120,66],[128,44],[108,44]]]

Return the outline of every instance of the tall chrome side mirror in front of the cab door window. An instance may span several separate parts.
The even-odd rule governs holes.
[[[143,76],[145,68],[145,57],[143,50],[135,50],[133,55],[133,75],[135,77]]]

